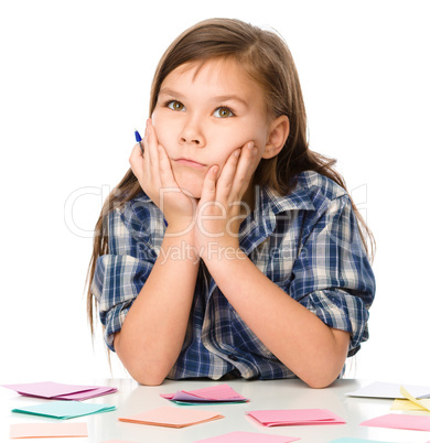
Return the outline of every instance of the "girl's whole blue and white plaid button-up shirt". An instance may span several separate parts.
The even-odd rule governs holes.
[[[268,187],[256,195],[255,210],[240,226],[240,248],[322,322],[350,332],[353,356],[368,338],[375,278],[347,193],[323,175],[304,172],[288,196]],[[114,334],[157,260],[163,222],[143,193],[108,215],[109,253],[97,260],[92,290],[111,350]],[[295,377],[249,329],[201,261],[186,336],[169,378],[219,379],[228,372],[247,379]]]

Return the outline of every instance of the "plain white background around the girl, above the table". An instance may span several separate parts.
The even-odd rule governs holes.
[[[2,1],[0,382],[112,372],[86,321],[92,229],[129,168],[169,43],[212,17],[273,28],[311,148],[338,160],[377,240],[370,339],[348,377],[430,385],[427,1]],[[162,320],[160,320],[162,321]]]

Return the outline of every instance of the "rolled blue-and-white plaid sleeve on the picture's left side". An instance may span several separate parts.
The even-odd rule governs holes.
[[[98,301],[104,337],[114,349],[115,333],[120,331],[133,301],[147,281],[154,262],[153,251],[131,235],[119,210],[108,217],[109,253],[96,262],[92,292]]]

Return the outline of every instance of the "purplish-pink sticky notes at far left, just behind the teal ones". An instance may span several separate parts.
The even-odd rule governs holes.
[[[106,386],[64,385],[54,381],[34,383],[1,385],[26,397],[40,397],[55,400],[87,400],[94,397],[106,396],[118,389]]]

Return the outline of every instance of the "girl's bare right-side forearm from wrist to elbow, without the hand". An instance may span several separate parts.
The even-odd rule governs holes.
[[[237,250],[206,266],[232,306],[259,339],[310,387],[329,386],[346,359],[350,333],[333,329],[262,274]]]

